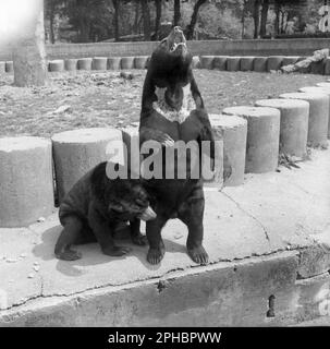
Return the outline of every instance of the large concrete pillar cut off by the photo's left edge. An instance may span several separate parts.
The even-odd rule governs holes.
[[[0,227],[23,227],[54,206],[50,140],[0,139]]]

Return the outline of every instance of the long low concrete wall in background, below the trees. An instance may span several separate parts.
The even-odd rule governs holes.
[[[48,59],[82,57],[147,56],[157,43],[97,43],[47,45]],[[193,55],[229,56],[306,56],[330,47],[329,38],[269,39],[269,40],[203,40],[188,41]],[[0,50],[0,60],[10,60],[9,49]]]

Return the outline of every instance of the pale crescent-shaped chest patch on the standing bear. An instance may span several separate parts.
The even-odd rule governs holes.
[[[166,101],[164,94],[167,92],[167,87],[160,88],[156,86],[155,94],[157,96],[157,100],[152,103],[152,108],[171,122],[184,122],[184,120],[191,115],[191,111],[196,109],[196,104],[192,95],[191,84],[185,85],[182,89],[182,107],[180,110],[175,110]]]

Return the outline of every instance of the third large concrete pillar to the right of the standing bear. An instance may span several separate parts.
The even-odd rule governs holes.
[[[257,107],[277,108],[281,111],[280,152],[303,157],[306,154],[309,104],[298,99],[260,99]]]

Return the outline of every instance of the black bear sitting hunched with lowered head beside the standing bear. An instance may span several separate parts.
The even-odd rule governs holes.
[[[81,258],[72,244],[97,241],[105,254],[121,256],[129,248],[118,246],[113,232],[119,224],[130,221],[131,238],[135,244],[146,244],[139,232],[139,219],[156,217],[149,206],[148,194],[138,179],[113,179],[101,163],[80,179],[64,196],[59,217],[63,230],[57,241],[54,254],[64,261]]]

